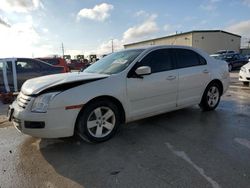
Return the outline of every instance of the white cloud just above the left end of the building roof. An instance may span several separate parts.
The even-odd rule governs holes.
[[[123,33],[123,41],[131,42],[135,39],[142,39],[146,36],[149,36],[152,33],[155,33],[159,30],[155,19],[157,15],[153,14],[147,18],[141,25],[137,25],[129,28]]]

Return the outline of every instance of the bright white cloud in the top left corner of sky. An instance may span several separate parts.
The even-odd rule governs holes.
[[[22,12],[27,13],[29,11],[43,8],[43,4],[40,0],[1,0],[0,10],[4,12]]]

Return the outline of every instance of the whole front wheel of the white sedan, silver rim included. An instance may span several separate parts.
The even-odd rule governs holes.
[[[79,114],[76,131],[90,142],[104,142],[115,134],[120,119],[115,104],[106,100],[94,101]]]

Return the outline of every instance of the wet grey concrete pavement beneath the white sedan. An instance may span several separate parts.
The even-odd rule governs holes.
[[[1,115],[0,187],[248,188],[250,87],[231,78],[216,111],[195,106],[130,123],[102,144],[32,138]]]

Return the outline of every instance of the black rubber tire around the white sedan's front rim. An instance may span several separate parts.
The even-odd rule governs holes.
[[[113,118],[112,116],[112,118],[115,119],[113,129],[110,132],[108,131],[109,133],[107,135],[105,135],[106,134],[105,133],[104,134],[105,136],[103,137],[95,136],[93,135],[94,134],[93,132],[95,131],[97,133],[98,127],[101,126],[104,120],[94,120],[94,121],[101,121],[101,123],[98,124],[98,126],[96,126],[96,130],[93,130],[95,129],[95,127],[89,129],[87,126],[87,122],[89,122],[88,121],[89,118],[95,115],[95,114],[93,115],[93,113],[94,113],[94,110],[97,108],[101,108],[101,111],[103,111],[103,109],[105,108],[110,109],[113,112],[113,115],[115,116],[115,118]],[[101,112],[101,114],[102,113],[103,112]],[[98,119],[97,116],[96,116],[96,119]],[[103,99],[96,100],[88,104],[86,107],[84,107],[84,109],[80,112],[77,122],[76,122],[76,134],[80,136],[83,140],[87,140],[87,141],[95,142],[95,143],[104,142],[114,136],[114,134],[120,127],[120,124],[121,124],[121,115],[119,113],[118,107],[114,103],[110,102],[109,100],[103,100]],[[105,125],[102,124],[102,132],[104,129],[106,129],[104,126]]]

